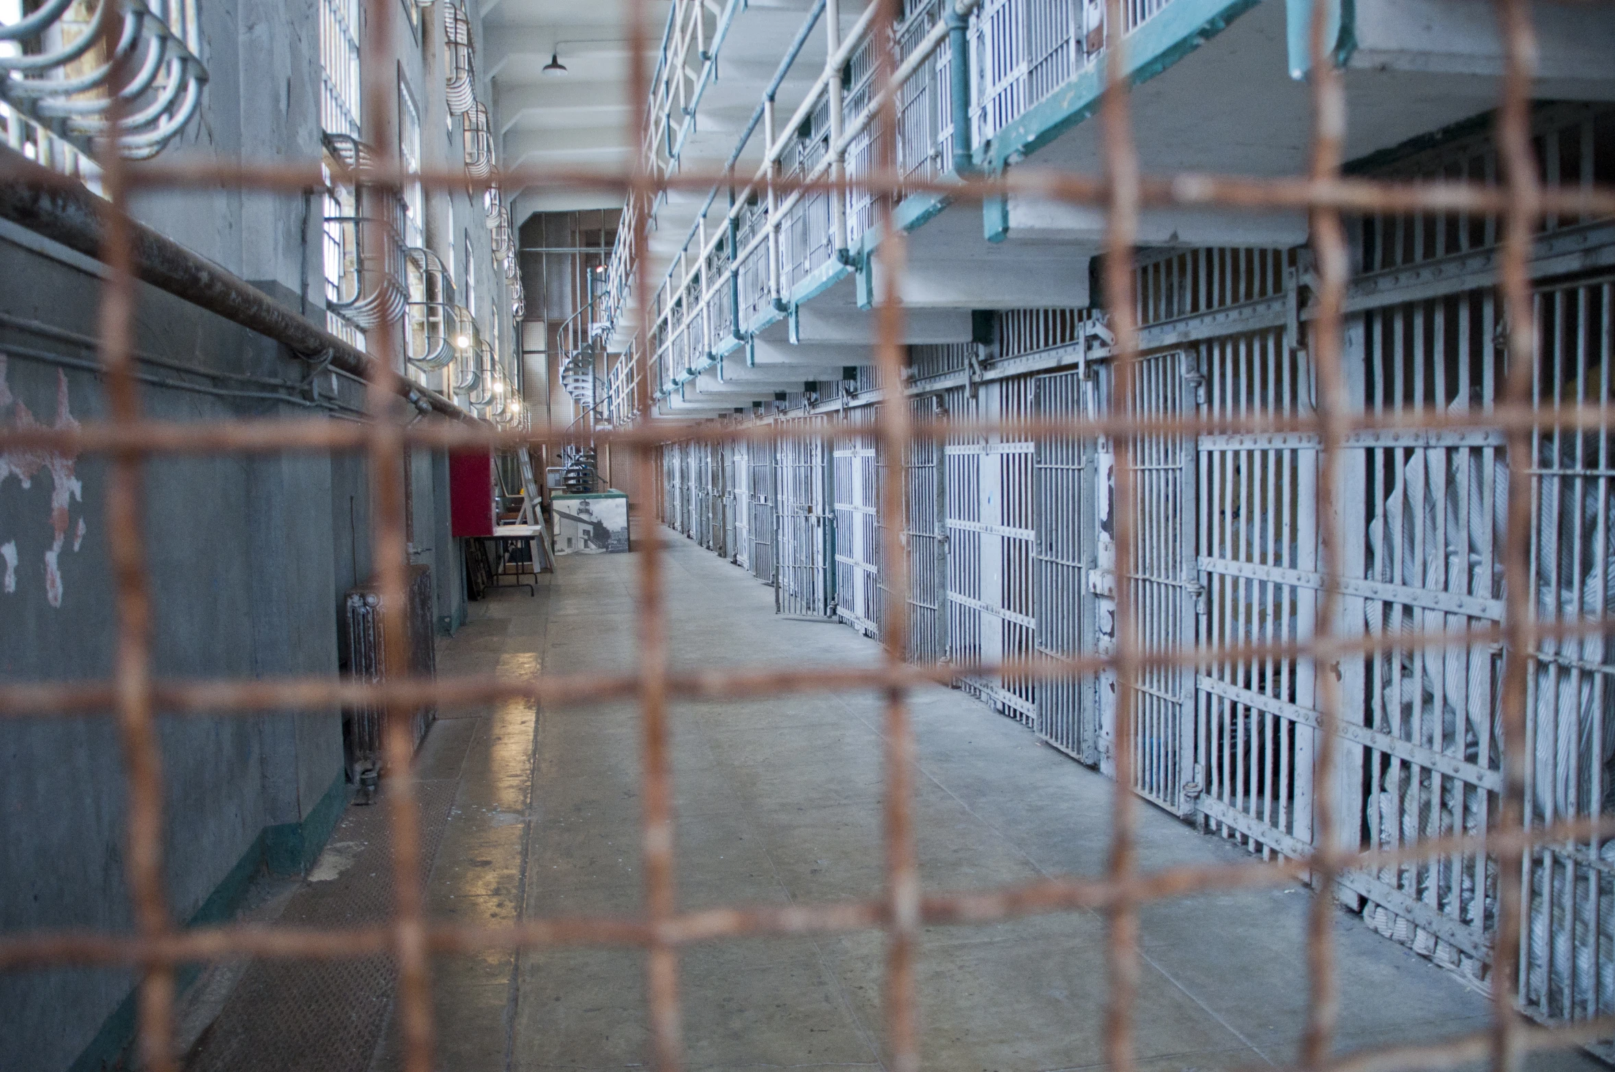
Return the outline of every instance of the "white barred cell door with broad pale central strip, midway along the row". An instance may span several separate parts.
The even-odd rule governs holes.
[[[1019,418],[1030,381],[984,384],[975,408],[984,418]],[[956,662],[1024,660],[1032,655],[1032,444],[988,436],[950,442],[945,513],[948,526],[948,638]],[[961,678],[995,710],[1035,722],[1029,678]]]

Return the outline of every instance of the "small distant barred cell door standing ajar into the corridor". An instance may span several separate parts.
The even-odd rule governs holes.
[[[778,444],[774,513],[774,605],[780,613],[822,618],[833,613],[835,520],[825,510],[825,444]]]

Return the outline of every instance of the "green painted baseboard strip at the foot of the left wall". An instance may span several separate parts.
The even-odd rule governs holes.
[[[236,861],[236,865],[229,869],[229,873],[213,886],[213,891],[202,906],[191,914],[186,927],[208,927],[234,917],[242,898],[247,896],[252,877],[260,869],[273,875],[302,875],[307,872],[315,859],[318,859],[331,831],[336,830],[336,820],[342,817],[347,798],[347,777],[339,770],[336,781],[325,791],[320,802],[308,809],[308,815],[302,822],[276,823],[260,830],[258,836],[247,846],[247,851]],[[176,974],[174,983],[182,991],[195,982],[200,972],[202,969],[195,964],[182,965]],[[68,1066],[68,1072],[110,1072],[111,1069],[134,1067],[134,1004],[136,995],[129,991],[118,1003],[118,1007],[113,1009],[111,1015],[102,1022],[100,1030],[95,1032],[95,1038],[84,1048],[78,1061]]]

